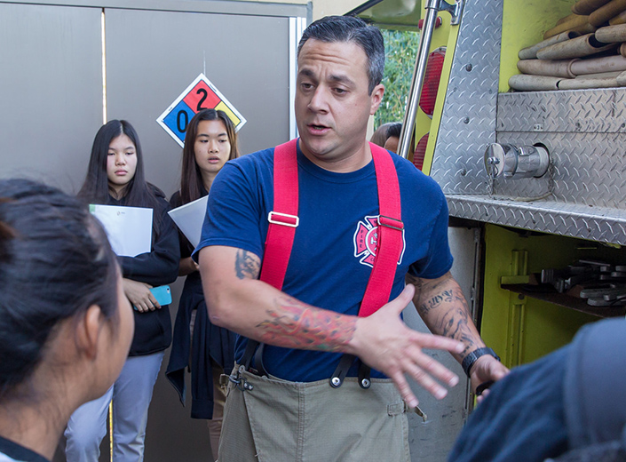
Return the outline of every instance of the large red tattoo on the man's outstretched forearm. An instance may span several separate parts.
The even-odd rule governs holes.
[[[286,348],[338,351],[353,339],[356,318],[309,307],[288,296],[275,300],[259,323],[261,340]]]

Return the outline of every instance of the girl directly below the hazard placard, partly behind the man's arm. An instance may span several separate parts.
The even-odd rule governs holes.
[[[224,164],[239,156],[234,124],[225,112],[203,109],[189,122],[183,147],[180,190],[171,196],[172,207],[209,194],[210,185]],[[180,236],[178,275],[186,275],[174,325],[167,378],[185,403],[185,368],[191,361],[192,418],[207,418],[210,447],[218,459],[218,442],[226,394],[221,374],[234,366],[234,333],[210,323],[198,265],[191,259],[194,247]]]

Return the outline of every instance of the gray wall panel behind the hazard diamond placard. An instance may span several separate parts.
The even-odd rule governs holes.
[[[106,10],[108,118],[126,118],[167,194],[181,149],[155,122],[204,69],[246,123],[242,153],[289,138],[289,20],[211,13]],[[268,63],[271,63],[268,65]]]

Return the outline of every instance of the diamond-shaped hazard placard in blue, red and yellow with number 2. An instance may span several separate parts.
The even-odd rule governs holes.
[[[234,123],[235,131],[239,131],[246,123],[246,119],[204,74],[197,76],[194,82],[170,104],[170,107],[163,111],[156,122],[170,133],[171,138],[175,139],[180,147],[183,147],[187,125],[202,109],[226,112]]]

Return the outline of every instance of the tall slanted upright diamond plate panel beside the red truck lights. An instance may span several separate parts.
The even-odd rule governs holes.
[[[483,154],[495,141],[502,20],[502,0],[465,4],[431,169],[446,194],[487,192]]]

